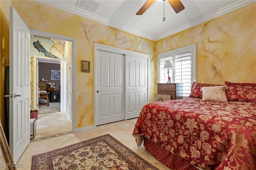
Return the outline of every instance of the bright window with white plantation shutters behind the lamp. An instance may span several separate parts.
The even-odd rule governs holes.
[[[174,69],[169,70],[172,83],[183,83],[183,98],[187,98],[192,83],[196,81],[196,45],[190,45],[158,54],[158,83],[168,81],[167,70],[163,70],[165,61],[170,60]]]

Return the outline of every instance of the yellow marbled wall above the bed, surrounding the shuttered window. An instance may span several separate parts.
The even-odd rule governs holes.
[[[256,83],[256,3],[157,41],[156,54],[197,42],[197,82]]]

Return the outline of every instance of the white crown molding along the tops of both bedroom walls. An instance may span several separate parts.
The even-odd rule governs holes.
[[[229,6],[226,6],[224,8],[221,8],[215,12],[212,12],[206,16],[203,16],[197,20],[194,20],[194,21],[191,21],[189,23],[186,23],[184,25],[181,25],[180,27],[177,27],[175,29],[172,29],[166,33],[163,33],[161,35],[158,35],[158,36],[152,36],[152,35],[149,35],[149,34],[146,34],[146,33],[143,33],[142,31],[138,31],[136,29],[132,29],[130,27],[126,27],[120,23],[117,23],[117,22],[114,22],[114,21],[111,21],[111,20],[108,20],[107,18],[104,18],[104,17],[101,17],[101,16],[98,16],[96,14],[93,14],[92,12],[88,12],[88,11],[85,11],[83,10],[82,8],[76,8],[70,4],[63,4],[61,0],[36,0],[37,2],[40,2],[42,4],[46,4],[46,5],[49,5],[49,6],[52,6],[54,8],[58,8],[60,10],[64,10],[66,12],[70,12],[72,14],[76,14],[78,16],[82,16],[84,18],[88,18],[90,20],[93,20],[93,21],[96,21],[96,22],[99,22],[99,23],[102,23],[104,25],[108,25],[110,27],[114,27],[116,29],[120,29],[122,31],[126,31],[128,33],[132,33],[134,35],[138,35],[140,37],[144,37],[146,39],[150,39],[150,40],[153,40],[153,41],[158,41],[160,39],[163,39],[165,37],[168,37],[170,35],[173,35],[175,33],[178,33],[180,31],[183,31],[185,29],[188,29],[190,27],[193,27],[193,26],[196,26],[200,23],[203,23],[205,21],[209,21],[209,20],[212,20],[218,16],[222,16],[224,14],[227,14],[228,12],[232,12],[234,10],[237,10],[239,8],[242,8],[244,6],[247,6],[249,4],[252,4],[254,2],[256,2],[255,0],[240,0],[238,2],[235,2]]]

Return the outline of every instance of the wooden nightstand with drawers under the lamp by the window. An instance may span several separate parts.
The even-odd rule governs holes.
[[[183,83],[157,83],[157,94],[171,95],[171,99],[183,99]]]

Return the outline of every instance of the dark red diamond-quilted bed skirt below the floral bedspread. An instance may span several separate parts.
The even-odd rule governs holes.
[[[191,165],[188,161],[180,158],[178,155],[172,154],[172,152],[162,148],[146,137],[144,137],[144,147],[157,160],[172,170],[198,170],[198,168]]]

